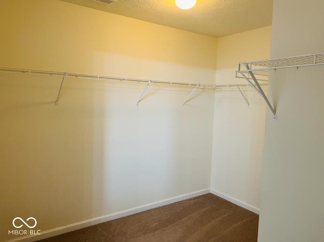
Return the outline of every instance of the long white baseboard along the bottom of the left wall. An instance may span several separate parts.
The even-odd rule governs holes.
[[[46,231],[41,231],[41,234],[39,234],[39,235],[27,235],[27,236],[15,238],[15,239],[10,239],[10,240],[7,240],[7,242],[15,242],[15,241],[33,242],[33,241],[36,241],[36,240],[39,240],[39,239],[45,239],[45,238],[53,237],[53,236],[56,236],[56,235],[60,235],[62,233],[71,232],[73,230],[86,228],[86,227],[96,225],[96,224],[99,224],[99,223],[104,223],[104,222],[107,222],[107,221],[110,221],[110,220],[123,218],[123,217],[129,216],[129,215],[144,212],[146,210],[150,210],[150,209],[158,208],[158,207],[161,207],[161,206],[173,204],[173,203],[176,203],[177,201],[182,201],[182,200],[189,199],[189,198],[192,198],[192,197],[195,197],[195,196],[204,195],[204,194],[207,194],[209,192],[210,192],[210,189],[198,190],[198,191],[186,193],[186,194],[179,195],[179,196],[174,196],[174,197],[171,197],[171,198],[168,198],[168,199],[155,201],[154,203],[145,204],[145,205],[138,206],[138,207],[135,207],[135,208],[123,210],[123,211],[120,211],[120,212],[107,214],[107,215],[104,215],[104,216],[100,216],[100,217],[97,217],[97,218],[80,221],[80,222],[73,223],[73,224],[68,224],[68,225],[65,225],[65,226],[62,226],[62,227],[49,229],[49,230],[46,230]]]

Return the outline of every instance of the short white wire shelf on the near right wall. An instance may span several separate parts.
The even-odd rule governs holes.
[[[297,68],[324,64],[324,53],[239,62],[237,72]],[[247,65],[250,69],[247,69]]]

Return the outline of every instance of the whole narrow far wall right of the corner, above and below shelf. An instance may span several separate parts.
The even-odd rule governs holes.
[[[270,42],[271,26],[218,38],[216,83],[246,84],[234,76],[237,63],[269,58]],[[244,93],[250,108],[238,90],[215,94],[211,189],[257,212],[266,105],[254,90]]]

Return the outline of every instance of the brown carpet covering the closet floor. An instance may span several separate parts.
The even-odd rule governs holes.
[[[211,193],[52,238],[52,241],[257,241],[259,216]]]

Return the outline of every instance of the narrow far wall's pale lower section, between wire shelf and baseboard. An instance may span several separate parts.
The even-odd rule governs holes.
[[[211,189],[259,208],[266,104],[244,91],[215,95]]]

